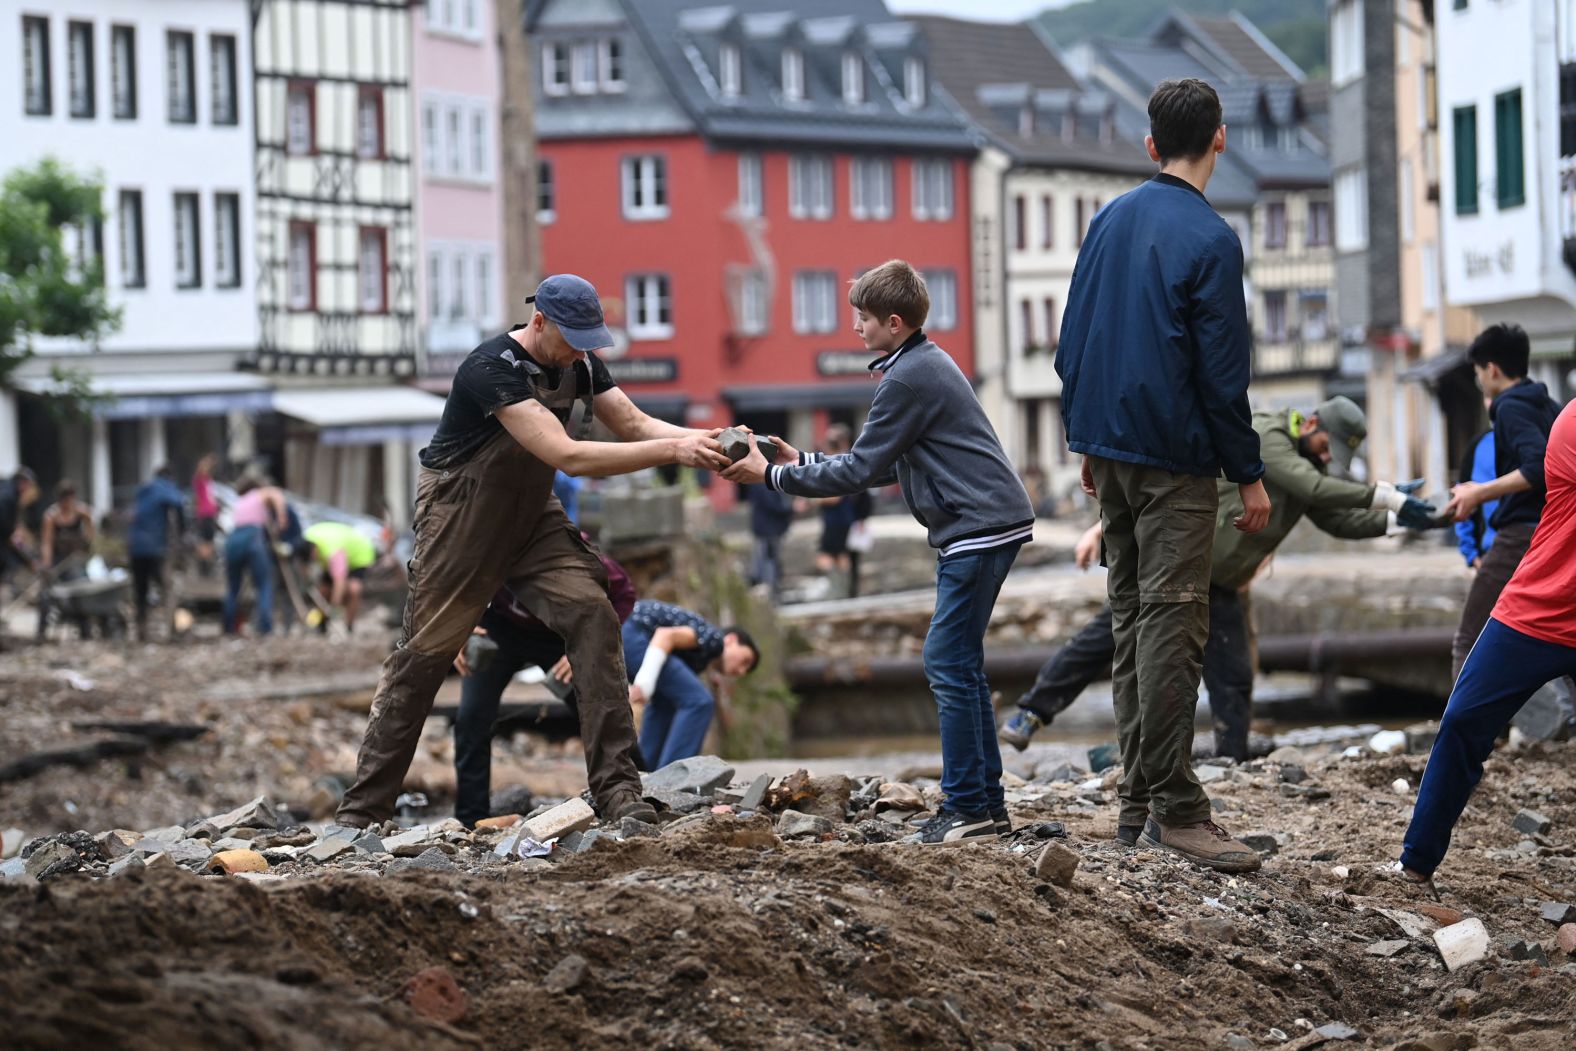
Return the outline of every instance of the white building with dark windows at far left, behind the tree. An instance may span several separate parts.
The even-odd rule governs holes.
[[[257,347],[251,11],[246,0],[22,0],[0,14],[3,167],[54,156],[104,183],[101,252],[121,328],[39,339],[0,392],[0,471],[68,476],[98,509],[154,466],[246,452],[268,383]],[[35,394],[57,366],[109,396],[61,424]]]

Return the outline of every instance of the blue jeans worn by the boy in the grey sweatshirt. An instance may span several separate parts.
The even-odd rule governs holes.
[[[996,709],[985,682],[985,627],[1023,544],[944,558],[925,635],[925,678],[941,717],[941,791],[947,808],[983,815],[1005,805]]]

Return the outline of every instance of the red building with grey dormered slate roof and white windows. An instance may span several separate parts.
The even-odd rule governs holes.
[[[602,293],[637,403],[812,446],[860,422],[848,284],[892,257],[925,273],[925,329],[972,375],[974,145],[879,0],[545,0],[526,30],[542,268]]]

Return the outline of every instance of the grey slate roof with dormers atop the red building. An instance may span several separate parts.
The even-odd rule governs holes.
[[[927,58],[925,39],[881,0],[621,0],[629,25],[668,90],[709,139],[886,147],[971,153],[963,118],[936,91],[914,109],[903,101],[903,61]],[[742,90],[717,84],[725,43],[741,50]],[[782,93],[782,54],[804,54],[804,101]],[[865,101],[842,93],[842,58],[859,54]]]

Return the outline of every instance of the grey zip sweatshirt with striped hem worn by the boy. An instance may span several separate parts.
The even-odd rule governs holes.
[[[1029,493],[947,351],[916,332],[872,369],[883,375],[854,448],[771,466],[766,485],[794,496],[846,496],[898,482],[942,558],[1032,539]]]

